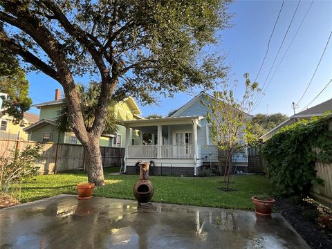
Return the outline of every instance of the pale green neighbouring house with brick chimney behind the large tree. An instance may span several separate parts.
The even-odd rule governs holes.
[[[60,142],[70,144],[80,144],[73,132],[62,132],[57,129],[55,120],[64,104],[64,99],[60,98],[59,89],[55,90],[55,100],[34,104],[32,107],[40,109],[39,121],[24,129],[28,132],[29,139],[38,142]],[[115,106],[118,120],[140,120],[140,109],[133,98],[119,102]],[[104,147],[124,147],[125,128],[118,125],[118,131],[114,134],[104,134],[100,137],[100,146]],[[131,131],[129,139],[136,144],[138,142],[138,131]]]

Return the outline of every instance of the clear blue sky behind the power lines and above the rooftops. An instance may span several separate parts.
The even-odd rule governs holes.
[[[284,3],[275,33],[270,42],[266,61],[257,78],[259,85],[263,86],[266,82],[267,88],[264,91],[264,98],[252,112],[253,114],[267,112],[281,112],[288,116],[293,114],[291,104],[292,102],[297,103],[306,90],[332,32],[332,1],[315,0],[291,44],[297,28],[299,28],[306,11],[311,5],[311,1],[302,0],[299,3],[275,66],[270,73],[270,77],[266,80],[297,3],[298,1],[285,1]],[[243,73],[248,72],[250,79],[255,80],[281,6],[282,1],[236,1],[230,5],[230,12],[235,14],[232,18],[234,26],[220,32],[221,40],[213,49],[224,50],[228,54],[226,64],[232,65],[230,81],[239,80],[239,87],[244,82]],[[291,46],[275,73],[289,44]],[[270,80],[274,73],[274,77]],[[301,111],[306,107],[331,79],[332,37],[322,62],[317,68],[315,77],[313,77],[301,102],[299,102],[299,108],[296,111]],[[28,80],[30,82],[30,97],[33,98],[34,104],[53,100],[55,89],[62,89],[57,82],[42,73],[29,73]],[[173,100],[160,96],[158,105],[142,107],[140,103],[138,104],[143,116],[148,116],[151,113],[166,116],[169,111],[181,107],[197,93],[199,93],[198,89],[192,91],[191,94],[177,93]],[[332,82],[309,107],[330,98],[332,98]],[[30,111],[39,112],[37,109],[31,109]]]

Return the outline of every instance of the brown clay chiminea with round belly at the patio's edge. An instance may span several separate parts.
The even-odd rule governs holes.
[[[133,195],[138,201],[138,207],[140,203],[147,203],[154,195],[154,186],[149,181],[149,166],[150,163],[140,163],[140,179],[135,185],[133,185]]]

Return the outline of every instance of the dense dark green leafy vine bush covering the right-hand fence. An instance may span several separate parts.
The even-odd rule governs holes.
[[[262,155],[276,195],[306,195],[312,184],[322,184],[316,177],[315,160],[332,161],[329,120],[331,116],[297,122],[266,142]],[[317,153],[313,148],[317,148]]]

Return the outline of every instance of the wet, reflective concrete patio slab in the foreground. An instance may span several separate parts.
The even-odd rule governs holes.
[[[0,211],[0,248],[309,248],[282,215],[60,195]]]

